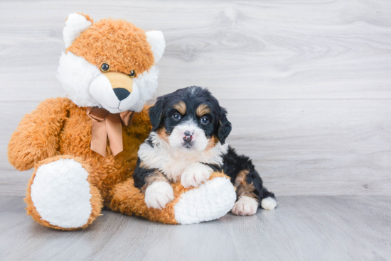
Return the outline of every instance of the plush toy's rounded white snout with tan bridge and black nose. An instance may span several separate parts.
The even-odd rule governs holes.
[[[139,101],[139,88],[121,72],[105,72],[90,84],[91,96],[111,113],[129,111]]]

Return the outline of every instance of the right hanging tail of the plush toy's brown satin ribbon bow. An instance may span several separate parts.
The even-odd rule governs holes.
[[[115,157],[124,150],[122,145],[122,123],[119,114],[110,113],[106,118],[107,135],[109,136],[110,148]]]

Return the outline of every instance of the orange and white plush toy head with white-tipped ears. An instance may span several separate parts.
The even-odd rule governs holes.
[[[124,20],[92,19],[71,13],[63,30],[66,52],[58,79],[77,106],[111,113],[139,112],[157,88],[163,33],[144,32]]]

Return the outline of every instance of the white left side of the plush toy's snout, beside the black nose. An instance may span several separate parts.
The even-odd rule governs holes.
[[[100,74],[92,80],[90,94],[107,111],[119,113],[119,99],[115,96],[112,84],[104,74]]]

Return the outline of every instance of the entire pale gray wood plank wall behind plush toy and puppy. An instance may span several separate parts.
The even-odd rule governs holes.
[[[156,96],[208,87],[230,145],[279,195],[391,195],[391,1],[1,1],[0,194],[31,171],[6,159],[11,133],[55,78],[68,13],[162,30]],[[152,101],[153,102],[153,101]]]

